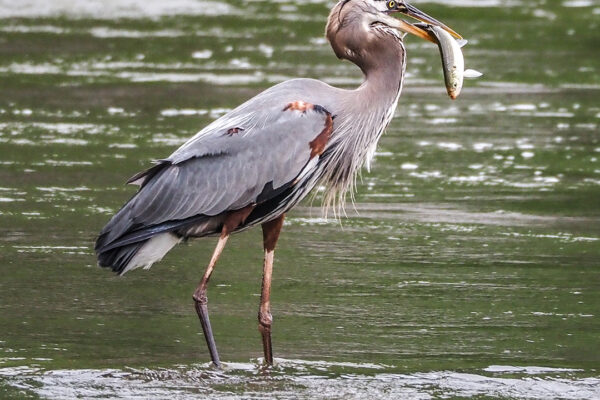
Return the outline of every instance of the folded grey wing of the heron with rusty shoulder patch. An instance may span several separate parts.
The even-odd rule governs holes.
[[[238,210],[293,185],[315,167],[310,161],[323,151],[332,117],[320,106],[290,104],[226,115],[136,175],[141,188],[105,227],[103,242],[168,221]]]

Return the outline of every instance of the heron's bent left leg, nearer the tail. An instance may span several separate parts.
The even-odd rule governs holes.
[[[210,259],[210,263],[204,272],[204,276],[200,281],[200,284],[196,288],[194,295],[194,304],[196,306],[196,313],[198,313],[198,318],[200,318],[200,324],[202,325],[202,331],[204,332],[204,338],[206,339],[206,344],[208,345],[208,351],[210,352],[210,358],[212,362],[217,366],[221,367],[221,361],[219,360],[219,353],[217,352],[217,345],[215,344],[215,338],[212,334],[212,328],[210,326],[210,319],[208,318],[208,296],[206,295],[206,288],[208,286],[208,281],[210,279],[210,275],[215,268],[215,264],[219,259],[219,256],[223,252],[225,248],[225,244],[227,243],[227,239],[229,239],[229,233],[224,229],[219,237],[219,242],[217,243],[217,247],[213,252],[213,255]]]

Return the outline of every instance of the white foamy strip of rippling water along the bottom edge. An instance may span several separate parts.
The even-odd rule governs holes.
[[[482,371],[386,372],[377,364],[276,360],[272,371],[256,363],[226,363],[171,369],[0,369],[11,386],[42,397],[191,399],[432,399],[490,396],[527,399],[591,399],[600,396],[600,379],[572,377],[579,370],[492,365]],[[510,377],[504,376],[510,374]],[[532,377],[533,376],[533,377]],[[443,394],[443,395],[442,395]]]

